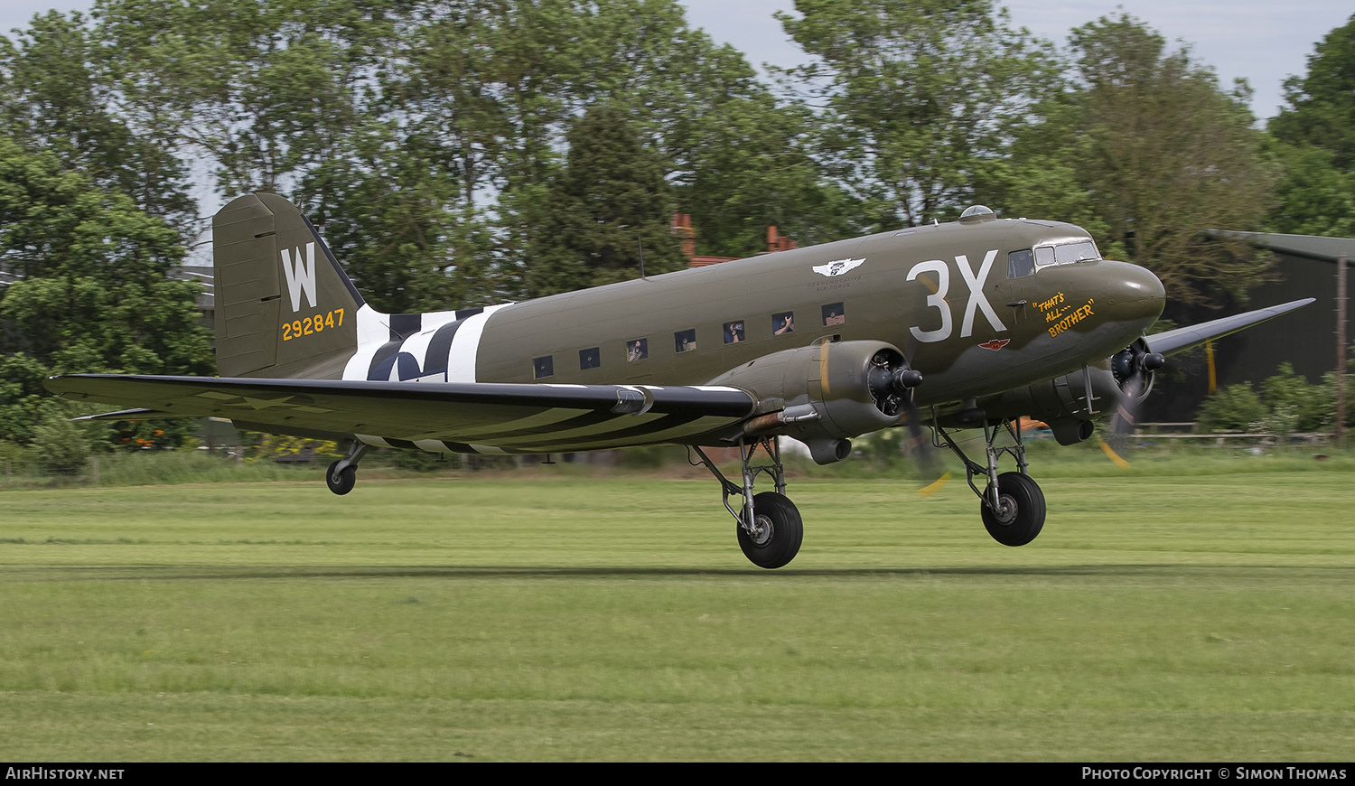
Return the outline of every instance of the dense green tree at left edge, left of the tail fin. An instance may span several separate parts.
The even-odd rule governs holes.
[[[178,233],[126,195],[0,137],[0,426],[33,436],[50,373],[210,374]]]

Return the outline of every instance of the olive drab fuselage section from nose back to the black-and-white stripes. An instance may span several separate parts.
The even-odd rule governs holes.
[[[476,381],[701,385],[828,337],[898,347],[921,405],[995,394],[1104,360],[1161,313],[1161,283],[1129,263],[1011,275],[1014,252],[1079,241],[1068,224],[989,218],[514,304],[485,321]]]

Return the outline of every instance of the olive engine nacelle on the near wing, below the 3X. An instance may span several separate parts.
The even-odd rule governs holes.
[[[744,426],[745,436],[786,434],[809,444],[818,463],[841,461],[850,438],[894,426],[921,375],[885,342],[817,342],[783,350],[710,381],[783,407]]]

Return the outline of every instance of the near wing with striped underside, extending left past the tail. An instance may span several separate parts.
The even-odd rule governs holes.
[[[229,417],[240,428],[455,453],[692,442],[753,415],[728,386],[500,385],[70,374],[66,398],[136,405],[88,419]]]

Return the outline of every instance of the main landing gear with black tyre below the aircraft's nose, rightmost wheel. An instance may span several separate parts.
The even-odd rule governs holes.
[[[1005,428],[1011,434],[1015,444],[995,446],[993,440]],[[984,518],[984,527],[995,541],[1004,546],[1024,546],[1035,539],[1045,526],[1045,492],[1039,491],[1035,481],[1026,474],[1026,446],[1020,439],[1020,421],[1003,420],[999,426],[991,426],[984,420],[984,443],[988,466],[976,463],[965,455],[965,451],[955,444],[946,430],[932,420],[932,431],[946,440],[961,461],[965,462],[965,476],[969,488],[978,495],[981,504],[978,512]],[[944,447],[932,439],[935,447]],[[1018,472],[1004,472],[997,474],[997,459],[1007,453],[1016,461]],[[988,485],[978,491],[974,477],[984,477]]]

